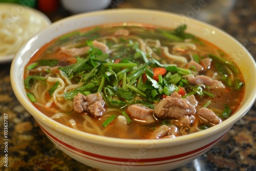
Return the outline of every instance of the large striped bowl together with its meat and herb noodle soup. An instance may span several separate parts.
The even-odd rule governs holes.
[[[227,76],[222,75],[221,82],[214,81],[218,84],[214,84],[214,87],[221,89],[225,87],[225,90],[229,91],[232,88],[231,85],[227,88],[228,83],[230,83],[230,81],[234,83],[236,82],[234,80],[239,78],[240,81],[237,85],[240,86],[237,89],[242,88],[242,93],[234,94],[240,94],[241,96],[236,95],[234,96],[234,100],[225,100],[229,95],[218,95],[218,97],[220,96],[219,99],[224,99],[224,104],[227,101],[234,101],[234,103],[223,104],[221,108],[222,112],[218,112],[217,109],[214,110],[213,103],[215,102],[214,99],[211,99],[211,94],[216,92],[214,90],[210,91],[214,89],[211,88],[212,84],[207,86],[207,83],[204,82],[206,86],[201,87],[201,84],[193,85],[189,87],[189,89],[185,86],[185,80],[189,80],[190,77],[191,79],[197,76],[206,78],[198,74],[203,71],[200,70],[198,72],[198,70],[194,68],[196,64],[193,65],[194,67],[181,69],[180,63],[184,64],[184,62],[187,62],[189,55],[187,57],[181,57],[182,55],[170,54],[170,51],[166,51],[166,48],[164,48],[167,46],[165,45],[166,40],[161,41],[161,45],[165,46],[160,46],[160,44],[158,44],[159,41],[155,41],[155,39],[158,39],[158,37],[154,37],[155,34],[152,36],[153,38],[147,39],[146,41],[141,41],[141,39],[143,39],[142,34],[141,38],[130,37],[130,39],[126,40],[125,36],[130,35],[132,30],[134,30],[129,30],[126,26],[132,26],[135,30],[137,30],[138,27],[139,29],[148,28],[150,32],[146,34],[146,37],[151,35],[152,32],[155,33],[154,31],[156,29],[154,28],[160,28],[158,29],[158,33],[164,34],[165,37],[172,39],[177,38],[177,32],[179,32],[179,30],[184,31],[184,29],[186,29],[185,32],[182,32],[182,35],[179,34],[181,37],[185,37],[184,39],[186,40],[183,39],[183,43],[185,42],[186,45],[179,43],[171,45],[172,49],[176,49],[179,52],[182,51],[182,54],[188,52],[189,48],[195,48],[194,45],[191,45],[192,37],[195,38],[194,36],[196,36],[200,38],[192,38],[193,41],[195,40],[197,43],[198,40],[201,39],[205,40],[204,43],[207,41],[209,45],[217,48],[217,50],[212,51],[211,55],[209,55],[207,51],[207,57],[211,57],[212,61],[218,60],[221,65],[218,65],[218,62],[215,63],[215,65],[220,66],[221,69],[227,72]],[[120,41],[118,41],[117,38],[110,38],[108,34],[105,34],[108,30],[104,30],[104,28],[108,27],[118,27],[114,32],[112,31],[112,34],[121,34],[122,37],[119,39]],[[104,40],[110,38],[111,42],[100,39],[102,37],[99,36],[101,33],[98,33],[99,30],[102,30],[100,28],[103,28]],[[174,31],[175,28],[176,32]],[[81,30],[86,31],[80,32]],[[127,32],[127,30],[129,31]],[[166,30],[172,31],[168,32]],[[172,35],[170,35],[170,33],[172,33]],[[86,37],[84,37],[85,35]],[[191,35],[193,36],[191,37]],[[73,39],[72,36],[76,38]],[[93,38],[89,39],[87,36],[92,36]],[[70,39],[70,42],[65,44],[63,40],[67,39]],[[222,41],[220,41],[220,39]],[[138,42],[136,43],[136,41]],[[187,41],[189,44],[187,44]],[[59,45],[55,46],[57,43],[59,43]],[[122,44],[130,47],[117,50]],[[200,46],[200,44],[203,43],[200,41],[196,45]],[[141,45],[147,45],[148,47]],[[184,48],[184,46],[187,47],[187,49]],[[165,56],[169,56],[169,58],[172,58],[175,62],[162,63],[163,60],[157,58],[157,56],[162,53],[158,53],[156,47],[159,47]],[[72,56],[74,51],[76,54]],[[127,57],[129,55],[124,57],[124,52],[127,52],[125,54],[129,54],[132,51],[134,52],[133,55],[130,55],[132,59],[126,60],[129,58]],[[70,52],[72,52],[72,54]],[[236,63],[236,67],[227,64],[229,62],[223,62],[224,57],[216,58],[215,52],[220,55],[222,53],[228,55],[230,60]],[[46,56],[47,54],[50,56],[40,57]],[[51,54],[53,55],[51,56]],[[122,55],[120,56],[120,54]],[[56,60],[56,58],[53,59],[53,56],[59,56],[59,58]],[[153,59],[148,58],[148,56],[153,56]],[[194,56],[194,60],[196,60],[195,58]],[[141,65],[136,63],[137,59],[142,63]],[[103,62],[100,63],[101,61]],[[44,64],[42,64],[42,62],[44,62]],[[146,65],[146,67],[144,67],[144,65]],[[86,69],[87,67],[89,67],[88,70]],[[154,70],[152,70],[151,67]],[[80,72],[81,68],[87,71]],[[104,70],[105,68],[106,70]],[[115,70],[116,68],[118,69]],[[165,68],[166,71],[164,73],[160,72],[160,74],[155,74],[156,72],[154,71],[159,71],[159,68],[161,68],[161,71],[162,68]],[[141,69],[143,69],[143,71],[140,71]],[[236,73],[237,71],[241,71],[239,77],[237,77],[236,74],[230,74]],[[31,75],[32,73],[38,72],[41,74]],[[103,72],[106,76],[103,77],[103,74],[100,72]],[[77,77],[78,73],[82,73],[82,76]],[[122,76],[120,76],[120,73]],[[138,78],[135,78],[135,73],[139,75]],[[168,73],[170,74],[166,76]],[[214,73],[217,72],[215,71]],[[144,77],[146,77],[145,80],[143,80],[143,74],[145,75]],[[48,76],[47,78],[45,77],[46,75]],[[154,75],[157,75],[157,77]],[[172,86],[173,84],[167,86],[167,77],[176,77],[178,75],[182,76],[176,79],[179,79],[179,81],[183,80],[183,83],[172,82],[175,84],[174,86]],[[118,76],[120,77],[118,78]],[[59,22],[36,33],[27,41],[15,55],[11,66],[11,84],[17,99],[26,110],[31,113],[48,138],[72,158],[100,170],[170,170],[203,155],[249,110],[255,100],[255,77],[256,67],[252,56],[236,39],[227,33],[214,26],[192,18],[184,18],[184,16],[181,15],[138,9],[90,12],[59,20]],[[229,81],[225,82],[224,78],[230,78],[230,80],[227,79]],[[47,88],[41,88],[41,83],[36,83],[38,82],[37,80],[45,81],[44,86]],[[81,80],[83,80],[83,82],[80,82]],[[122,80],[121,86],[117,83],[118,80]],[[163,91],[161,91],[159,86],[161,80],[166,80],[162,82],[166,87],[164,89],[163,86]],[[208,77],[207,80],[209,80]],[[67,83],[67,87],[65,87],[66,82],[69,82]],[[143,89],[138,86],[139,82],[141,84],[150,83],[150,86],[144,86],[144,88],[146,87],[146,91],[142,92]],[[193,82],[193,80],[189,80],[189,82]],[[108,83],[108,86],[102,86],[106,83]],[[49,86],[47,86],[48,84]],[[122,87],[123,84],[124,86]],[[128,90],[126,90],[126,88]],[[157,88],[157,91],[153,88]],[[207,92],[206,90],[208,89],[209,91]],[[72,90],[75,91],[72,92]],[[196,94],[192,94],[194,90],[197,90],[195,91]],[[64,94],[62,94],[62,91],[64,91]],[[38,95],[38,92],[41,93]],[[116,94],[112,92],[116,92]],[[131,94],[131,92],[134,94]],[[222,92],[222,90],[217,92]],[[204,94],[200,95],[200,93]],[[93,95],[91,102],[89,100],[90,95]],[[197,102],[193,102],[194,96],[207,96],[211,101],[208,102],[209,100],[206,100],[202,102],[202,99],[200,100],[199,98]],[[131,97],[132,99],[130,99]],[[147,99],[145,99],[145,97]],[[67,101],[63,101],[63,98],[67,98]],[[136,98],[136,100],[134,100],[134,98]],[[48,99],[48,101],[46,101],[46,99]],[[72,101],[72,99],[74,101]],[[126,100],[120,102],[120,99]],[[159,99],[158,102],[156,102],[157,99]],[[166,117],[168,118],[168,116],[165,113],[164,119],[161,119],[161,114],[163,113],[162,109],[165,109],[165,105],[163,105],[162,102],[165,102],[167,99],[175,99],[184,104],[182,106],[185,107],[179,107],[179,109],[192,113],[194,110],[206,110],[205,104],[210,103],[207,104],[207,106],[210,106],[212,103],[211,111],[225,116],[221,117],[218,114],[212,121],[207,121],[207,118],[204,118],[198,114],[198,112],[198,117],[191,113],[180,116],[181,118],[190,118],[189,124],[192,121],[198,124],[204,123],[200,128],[197,126],[191,129],[191,134],[188,134],[188,132],[184,130],[185,127],[189,130],[189,128],[193,126],[181,126],[181,129],[179,125],[186,124],[183,122],[184,120],[181,121],[181,118],[177,119],[176,116],[173,116],[173,118],[169,119],[168,123],[166,123]],[[102,100],[104,102],[102,102]],[[90,103],[97,104],[97,109],[91,110]],[[202,106],[199,109],[198,106],[201,103]],[[116,110],[117,104],[119,106],[118,110]],[[143,104],[142,107],[141,104]],[[228,105],[230,108],[228,108]],[[233,108],[233,105],[236,105],[236,108]],[[108,106],[108,109],[105,108],[105,106]],[[113,106],[115,106],[115,108]],[[133,106],[133,108],[129,109],[130,106]],[[193,108],[193,106],[195,108]],[[138,108],[140,111],[134,112]],[[143,116],[148,116],[147,113],[151,113],[152,108],[154,109],[153,118],[137,118],[137,115],[134,115],[134,113],[137,113],[141,116],[142,111],[146,111],[145,115],[143,113]],[[65,110],[71,112],[61,112]],[[172,108],[168,108],[168,110],[172,110]],[[74,111],[77,114],[75,114]],[[230,112],[232,112],[232,114]],[[102,115],[103,113],[104,115]],[[176,112],[176,110],[170,113],[180,114],[180,112]],[[207,110],[201,111],[201,113],[207,113]],[[92,117],[92,114],[95,116]],[[123,116],[121,116],[122,114]],[[230,114],[231,116],[224,119]],[[188,117],[191,115],[193,116]],[[104,116],[108,117],[104,118]],[[101,119],[94,123],[95,118]],[[129,118],[132,122],[129,121]],[[125,130],[116,131],[117,127],[113,127],[113,125],[117,125],[115,123],[119,122],[113,119],[124,120],[122,123],[125,124],[121,125],[122,129],[129,124],[133,125],[131,129],[142,129],[142,131],[138,131],[136,136],[133,136],[134,133],[132,132],[122,134]],[[152,119],[154,121],[152,121]],[[178,122],[176,123],[176,121]],[[143,126],[139,127],[138,122],[143,124]],[[151,125],[152,122],[154,122],[153,126]],[[97,125],[97,123],[99,124]],[[79,129],[81,125],[84,130]],[[152,127],[147,127],[148,125]],[[204,129],[202,128],[203,126],[207,128]],[[106,127],[107,130],[103,130],[103,127]],[[167,129],[167,134],[162,135],[159,133],[154,137],[154,133],[156,133],[155,131],[158,130],[159,127]],[[198,131],[198,129],[201,130]],[[108,131],[111,132],[108,133]],[[160,132],[161,131],[162,130],[160,130]],[[173,132],[170,133],[170,131]],[[144,136],[145,134],[146,136]]]

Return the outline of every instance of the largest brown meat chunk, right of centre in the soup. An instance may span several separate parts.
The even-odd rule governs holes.
[[[158,117],[181,118],[196,113],[197,100],[194,95],[181,98],[177,92],[162,99],[155,107],[154,114]]]

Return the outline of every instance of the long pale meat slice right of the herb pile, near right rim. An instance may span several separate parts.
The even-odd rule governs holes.
[[[225,88],[221,81],[211,79],[205,75],[197,75],[196,77],[189,77],[188,81],[195,85],[209,86],[210,89],[222,89]]]

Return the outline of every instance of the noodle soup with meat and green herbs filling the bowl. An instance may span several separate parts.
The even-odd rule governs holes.
[[[58,37],[28,63],[27,95],[52,119],[101,136],[175,138],[219,124],[239,108],[243,77],[185,29],[115,25]]]

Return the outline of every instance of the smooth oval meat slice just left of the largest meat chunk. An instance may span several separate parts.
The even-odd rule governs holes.
[[[126,108],[125,112],[136,121],[143,123],[155,122],[153,117],[154,110],[144,106],[143,104],[132,104]]]

